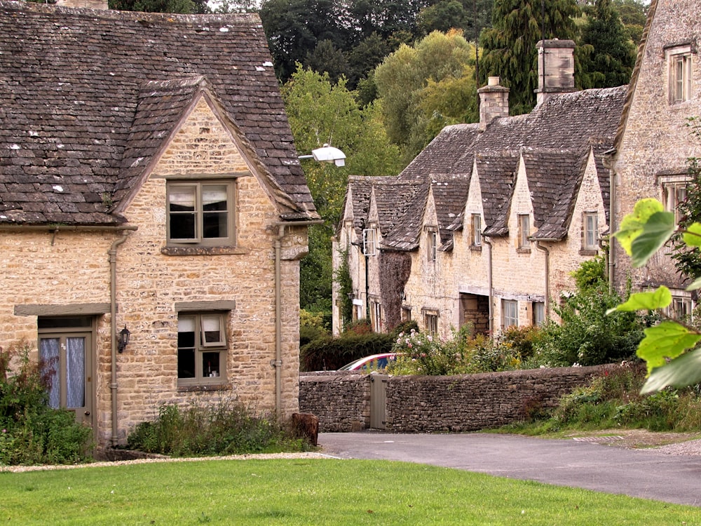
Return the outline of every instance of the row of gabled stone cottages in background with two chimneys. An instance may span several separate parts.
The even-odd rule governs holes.
[[[414,319],[441,337],[542,323],[570,272],[601,254],[604,152],[627,88],[576,91],[573,41],[538,48],[533,112],[509,116],[493,77],[479,123],[444,128],[397,177],[351,177],[334,255],[338,267],[348,252],[354,318],[369,312],[376,330]]]

